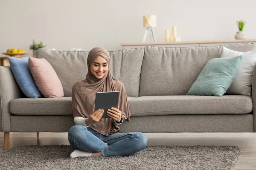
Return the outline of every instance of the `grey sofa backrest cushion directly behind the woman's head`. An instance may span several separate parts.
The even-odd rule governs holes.
[[[64,97],[68,97],[71,96],[73,85],[85,79],[88,54],[87,51],[52,51],[40,48],[36,57],[45,58],[52,65],[61,81]],[[128,96],[138,97],[144,48],[109,51],[109,55],[113,77],[124,84]]]

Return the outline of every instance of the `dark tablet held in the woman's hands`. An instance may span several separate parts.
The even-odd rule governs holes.
[[[117,108],[119,100],[119,91],[104,91],[97,92],[95,98],[94,111],[98,109],[104,109],[104,113],[101,118],[111,118],[108,116],[108,109]]]

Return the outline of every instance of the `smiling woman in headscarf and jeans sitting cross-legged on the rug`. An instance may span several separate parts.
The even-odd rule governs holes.
[[[119,133],[123,120],[130,121],[125,87],[111,75],[110,58],[104,48],[93,48],[87,57],[86,79],[72,89],[75,126],[68,132],[73,149],[70,157],[126,156],[145,149],[148,138],[141,132]],[[103,110],[94,111],[96,92],[119,91],[119,106],[107,111],[111,118],[100,119]]]

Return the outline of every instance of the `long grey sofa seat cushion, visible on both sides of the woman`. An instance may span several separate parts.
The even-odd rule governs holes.
[[[245,114],[252,111],[251,96],[142,96],[127,97],[131,116],[171,114]],[[71,97],[20,98],[10,102],[15,115],[73,116]]]

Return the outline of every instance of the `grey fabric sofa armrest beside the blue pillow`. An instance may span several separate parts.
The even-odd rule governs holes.
[[[22,98],[23,93],[12,74],[10,66],[0,66],[0,131],[11,131],[9,103],[12,99]]]

